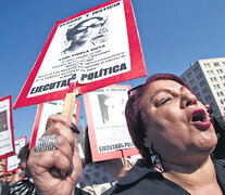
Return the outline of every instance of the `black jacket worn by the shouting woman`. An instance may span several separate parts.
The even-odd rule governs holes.
[[[225,194],[225,160],[213,160],[218,184]],[[141,160],[118,180],[115,186],[111,187],[103,195],[188,195],[189,193],[176,183],[165,179],[153,168],[147,168]]]

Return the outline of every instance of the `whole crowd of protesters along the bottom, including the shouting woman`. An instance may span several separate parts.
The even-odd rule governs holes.
[[[225,129],[183,80],[160,74],[133,89],[126,119],[142,156],[135,166],[127,168],[118,158],[92,162],[88,129],[82,164],[74,125],[54,115],[43,134],[53,147],[29,154],[26,144],[18,153],[16,171],[5,173],[5,162],[0,161],[1,195],[225,194]]]

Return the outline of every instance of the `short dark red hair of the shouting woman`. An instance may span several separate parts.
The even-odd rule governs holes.
[[[185,86],[189,91],[191,91],[190,88],[179,77],[171,74],[152,75],[147,79],[146,83],[129,90],[129,99],[126,103],[125,108],[126,121],[133,142],[136,145],[136,147],[140,151],[143,161],[147,164],[151,164],[151,156],[149,154],[149,148],[146,147],[143,144],[143,139],[146,138],[146,128],[141,117],[141,106],[139,103],[142,99],[145,91],[154,81],[158,80],[174,80],[180,83],[182,86]]]

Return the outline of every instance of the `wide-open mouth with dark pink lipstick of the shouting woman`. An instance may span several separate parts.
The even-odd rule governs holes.
[[[190,123],[200,130],[207,130],[211,126],[211,121],[207,118],[207,113],[201,108],[192,110]]]

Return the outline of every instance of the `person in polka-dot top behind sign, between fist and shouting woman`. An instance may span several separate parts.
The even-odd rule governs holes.
[[[125,167],[121,158],[92,162],[88,128],[85,131],[85,165],[77,187],[91,195],[100,195],[112,187],[132,167]]]

